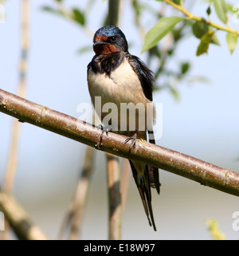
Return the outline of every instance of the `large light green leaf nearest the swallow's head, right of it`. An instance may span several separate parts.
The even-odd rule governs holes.
[[[142,53],[157,45],[157,43],[166,36],[170,30],[173,30],[174,26],[183,19],[184,18],[174,16],[160,18],[159,22],[157,22],[155,26],[147,32],[143,42]]]

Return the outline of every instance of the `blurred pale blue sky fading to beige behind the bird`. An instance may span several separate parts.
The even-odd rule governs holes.
[[[123,2],[124,14],[120,28],[127,40],[134,42],[130,52],[145,60],[146,54],[140,54],[143,42],[134,29],[131,8],[127,1]],[[155,6],[161,4],[148,2]],[[41,11],[41,6],[47,3],[49,1],[31,1],[31,47],[26,98],[78,117],[77,104],[90,102],[86,67],[93,57],[93,52],[79,55],[76,54],[76,50],[81,46],[92,45],[92,38],[86,36],[74,23]],[[72,0],[68,3],[69,6],[84,6],[85,1],[79,3]],[[107,5],[107,1],[97,1],[93,9],[95,15],[89,19],[92,33],[100,27],[103,20],[99,10],[105,14]],[[202,15],[205,9],[206,6],[198,4],[193,12]],[[20,57],[19,2],[7,1],[5,10],[6,22],[0,24],[0,88],[16,93]],[[98,11],[97,15],[96,11]],[[220,21],[215,18],[215,22]],[[148,24],[150,29],[154,21],[146,17],[145,24]],[[230,24],[239,30],[239,23]],[[209,54],[201,57],[195,56],[197,39],[189,37],[179,45],[178,58],[192,61],[190,76],[208,77],[212,83],[177,85],[181,96],[178,103],[166,91],[155,93],[154,101],[163,103],[163,137],[157,143],[238,172],[239,49],[231,56],[226,48],[225,33],[219,32],[218,37],[221,47],[210,45]],[[10,140],[11,118],[0,113],[0,124],[0,179],[2,179]],[[56,237],[62,216],[71,199],[84,156],[83,149],[83,145],[72,140],[30,124],[22,124],[14,192],[51,238]],[[101,164],[104,166],[100,160],[101,156],[104,155],[98,153],[97,160],[101,161],[100,166]],[[104,167],[100,168],[98,164],[88,199],[87,217],[83,226],[84,238],[107,238],[107,226],[102,228],[100,226],[102,220],[99,221],[102,218],[106,225],[105,177]],[[159,223],[163,231],[155,234],[148,228],[138,191],[131,179],[128,200],[131,202],[132,199],[135,203],[133,206],[132,203],[128,203],[125,209],[123,238],[210,238],[204,225],[206,218],[217,218],[229,238],[238,238],[238,232],[233,231],[230,226],[233,211],[239,210],[236,197],[198,186],[198,183],[170,175],[167,171],[161,171],[161,177],[163,192],[159,199],[154,194],[153,204],[155,204],[155,215],[157,216],[157,213],[160,215],[156,223]],[[96,188],[96,185],[100,187]],[[100,194],[101,192],[103,194]],[[96,201],[100,199],[103,206],[99,209]],[[91,202],[95,203],[91,204]],[[57,208],[57,203],[61,207]],[[91,217],[92,211],[99,211],[98,222],[93,224],[91,224],[91,218],[94,218]],[[42,212],[45,215],[42,215]],[[137,223],[138,219],[140,225]],[[46,226],[45,223],[49,220],[52,225]],[[94,230],[94,226],[91,225],[98,225],[99,229],[103,230],[104,237],[99,237],[102,232]],[[127,226],[131,226],[130,230],[127,230]],[[137,230],[137,234],[134,234],[132,229]],[[142,230],[143,232],[140,232]]]

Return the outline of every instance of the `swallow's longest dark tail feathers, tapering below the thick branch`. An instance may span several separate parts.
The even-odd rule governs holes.
[[[142,199],[144,211],[147,215],[148,222],[150,226],[153,225],[154,230],[156,231],[155,219],[154,219],[152,205],[151,205],[151,180],[149,176],[148,167],[146,165],[143,175],[140,175],[138,171],[136,171],[135,166],[131,162],[131,160],[129,162],[131,164],[133,177],[138,187],[139,195]]]

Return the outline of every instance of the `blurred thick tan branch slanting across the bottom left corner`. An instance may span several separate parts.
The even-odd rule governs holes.
[[[11,228],[19,239],[24,240],[47,240],[48,238],[36,226],[29,215],[6,192],[0,191],[0,211],[10,223]],[[5,231],[2,231],[4,233]]]

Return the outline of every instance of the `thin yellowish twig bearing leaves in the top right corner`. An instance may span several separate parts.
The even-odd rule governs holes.
[[[177,5],[176,3],[170,1],[170,0],[163,0],[164,2],[167,2],[167,4],[169,4],[170,6],[173,6],[175,9],[180,10],[182,12],[182,14],[185,14],[186,17],[190,20],[194,20],[197,22],[206,22],[207,25],[210,25],[212,27],[214,27],[217,30],[224,30],[230,33],[235,33],[237,34],[237,36],[239,36],[239,30],[233,30],[232,28],[230,28],[229,26],[221,26],[218,25],[214,22],[211,21],[206,21],[204,18],[195,16],[194,14],[190,13],[188,10],[184,9],[184,7],[181,5]]]

